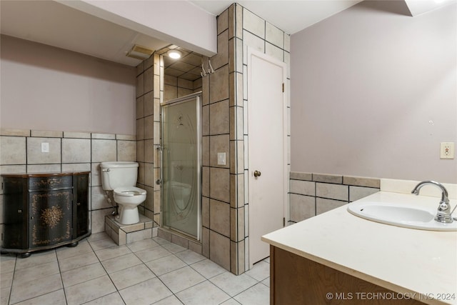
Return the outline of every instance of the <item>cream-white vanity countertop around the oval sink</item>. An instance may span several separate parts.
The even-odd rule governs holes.
[[[380,191],[358,201],[438,208],[439,198]],[[451,208],[455,205],[451,199]],[[380,224],[350,214],[347,207],[286,226],[262,240],[426,304],[457,304],[457,231]]]

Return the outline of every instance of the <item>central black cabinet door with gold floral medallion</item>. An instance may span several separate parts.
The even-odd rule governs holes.
[[[29,193],[29,247],[50,246],[71,240],[72,190]]]

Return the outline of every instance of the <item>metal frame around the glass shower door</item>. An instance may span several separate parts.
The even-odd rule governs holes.
[[[160,146],[161,146],[161,151],[164,149],[164,106],[169,106],[171,104],[182,104],[186,101],[189,101],[191,99],[196,99],[196,121],[197,121],[197,141],[196,141],[196,146],[197,146],[197,165],[196,165],[196,171],[197,171],[197,236],[194,236],[192,234],[186,233],[184,231],[181,231],[179,229],[175,229],[171,226],[166,226],[165,223],[165,196],[164,196],[164,155],[163,153],[161,154],[160,158],[160,184],[161,184],[161,217],[160,217],[160,226],[165,229],[169,229],[170,231],[177,232],[179,234],[183,234],[184,236],[190,237],[191,239],[196,239],[196,241],[201,242],[201,232],[202,232],[202,221],[201,221],[201,164],[202,164],[202,128],[203,124],[201,121],[202,115],[203,115],[203,109],[202,109],[202,91],[198,91],[193,94],[188,94],[186,96],[181,96],[176,99],[171,99],[169,101],[163,101],[160,104],[160,126],[161,126],[161,139],[160,139]]]

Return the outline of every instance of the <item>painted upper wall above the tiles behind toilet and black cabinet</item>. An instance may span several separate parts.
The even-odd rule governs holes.
[[[136,134],[136,68],[1,36],[0,126]]]

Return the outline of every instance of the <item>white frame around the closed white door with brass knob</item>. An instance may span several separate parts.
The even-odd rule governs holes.
[[[286,84],[287,84],[287,64],[283,61],[279,61],[278,59],[274,58],[273,56],[269,56],[267,54],[263,54],[261,51],[257,51],[256,49],[253,49],[251,47],[247,47],[247,72],[248,72],[248,76],[247,76],[247,91],[248,91],[248,94],[247,94],[247,97],[248,97],[248,103],[249,101],[252,100],[251,98],[251,90],[250,90],[250,84],[251,84],[251,69],[252,69],[252,65],[251,65],[251,61],[252,61],[252,56],[256,56],[264,61],[268,61],[268,62],[271,62],[272,64],[275,64],[277,66],[281,66],[282,70],[283,70],[283,176],[284,176],[284,181],[283,181],[283,217],[284,217],[284,226],[287,226],[288,224],[288,221],[289,221],[289,206],[288,206],[288,186],[289,186],[289,179],[288,179],[288,155],[289,155],[289,145],[288,145],[288,92],[287,92],[287,87]],[[245,124],[248,124],[248,121],[249,121],[249,111],[248,111],[248,107],[246,107],[245,111],[247,111],[247,121],[245,122]],[[249,132],[248,132],[248,148],[249,148],[250,144],[249,144]],[[251,176],[252,176],[252,171],[253,169],[251,168],[250,164],[250,160],[253,156],[251,156],[249,154],[249,149],[248,149],[248,153],[247,153],[247,162],[248,162],[248,176],[246,177],[246,179],[249,181]],[[251,186],[249,185],[248,183],[248,203],[251,204],[252,201],[252,198],[251,198],[251,195],[252,192],[251,192]],[[248,214],[248,232],[249,232],[249,228],[251,227],[251,219],[254,215],[251,214],[251,212],[249,212]],[[251,248],[251,239],[248,243],[248,249]],[[252,268],[253,266],[253,263],[255,263],[255,261],[251,261],[251,256],[248,255],[248,266],[249,266],[249,269]]]

